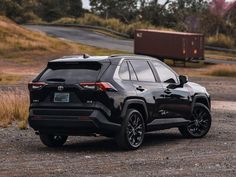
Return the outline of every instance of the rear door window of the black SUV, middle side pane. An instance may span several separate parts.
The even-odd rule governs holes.
[[[155,82],[155,77],[147,61],[131,60],[130,61],[139,81]]]

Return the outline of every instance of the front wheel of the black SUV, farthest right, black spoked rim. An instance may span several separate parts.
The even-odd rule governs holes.
[[[183,127],[179,127],[180,133],[188,138],[202,138],[211,128],[210,110],[201,103],[195,103],[191,122]]]

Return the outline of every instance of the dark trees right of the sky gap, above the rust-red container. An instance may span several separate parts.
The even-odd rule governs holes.
[[[163,2],[163,1],[162,1]],[[124,23],[150,22],[180,31],[232,34],[236,31],[236,1],[225,0],[90,0],[91,10]]]

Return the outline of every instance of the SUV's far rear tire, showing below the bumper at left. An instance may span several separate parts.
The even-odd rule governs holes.
[[[65,144],[68,136],[62,135],[49,135],[49,134],[41,134],[39,135],[42,143],[48,147],[61,147]]]

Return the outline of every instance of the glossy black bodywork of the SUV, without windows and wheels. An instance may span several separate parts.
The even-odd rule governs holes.
[[[122,80],[119,77],[119,67],[123,61],[146,60],[155,76],[155,82],[140,82],[135,80]],[[157,119],[184,118],[190,119],[195,102],[201,102],[210,108],[210,96],[206,90],[191,82],[181,85],[178,83],[161,83],[155,71],[151,57],[145,56],[111,56],[63,58],[53,60],[53,63],[65,64],[77,62],[99,62],[104,67],[97,81],[111,83],[117,91],[94,91],[81,90],[79,84],[48,83],[40,90],[30,90],[30,116],[29,124],[35,131],[51,132],[55,134],[74,135],[81,133],[116,134],[121,126],[122,119],[129,108],[140,109],[146,122],[146,126]],[[39,74],[33,82],[39,81],[45,70]],[[74,94],[75,99],[70,103],[52,103],[53,93],[57,92],[58,86],[63,85],[66,92]],[[169,87],[172,85],[172,87]],[[173,87],[174,85],[174,87]],[[76,99],[78,98],[78,99]],[[34,100],[38,100],[34,102]],[[42,102],[44,100],[44,102]],[[46,101],[45,101],[46,100]],[[67,116],[68,110],[78,110],[78,114]],[[40,115],[34,112],[41,111]],[[61,110],[64,115],[47,115],[47,111],[57,112]],[[80,121],[80,117],[86,112],[79,110],[91,110],[90,120]],[[82,114],[83,113],[83,114]],[[97,116],[97,117],[96,117]],[[71,118],[71,119],[70,119]],[[74,119],[72,119],[74,118]],[[177,124],[166,128],[176,127]],[[161,128],[157,128],[161,129]],[[148,130],[148,129],[147,129]],[[155,130],[155,129],[150,129]]]

